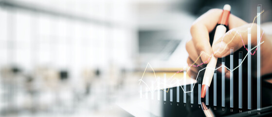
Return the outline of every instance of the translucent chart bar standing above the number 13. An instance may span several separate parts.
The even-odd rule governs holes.
[[[230,53],[230,107],[233,108],[233,48],[231,48]]]

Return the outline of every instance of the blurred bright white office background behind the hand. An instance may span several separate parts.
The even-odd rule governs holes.
[[[0,0],[0,116],[130,116],[116,101],[147,62],[186,65],[191,24],[225,3],[272,19],[271,0]]]

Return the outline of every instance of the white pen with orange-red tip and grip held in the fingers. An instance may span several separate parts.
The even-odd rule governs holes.
[[[231,6],[229,4],[225,4],[223,8],[223,13],[216,27],[213,43],[215,43],[220,37],[222,37],[226,33],[230,11],[231,11]],[[210,62],[207,64],[204,77],[203,77],[202,87],[201,87],[201,98],[205,97],[206,89],[210,87],[210,84],[213,79],[213,74],[214,74],[214,69],[216,67],[217,59],[218,58],[212,56]]]

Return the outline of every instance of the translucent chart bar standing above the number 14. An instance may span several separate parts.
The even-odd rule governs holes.
[[[242,94],[243,94],[243,91],[242,91],[242,87],[243,87],[243,84],[242,84],[242,58],[243,58],[243,52],[239,52],[239,76],[238,76],[238,92],[239,92],[239,109],[243,108],[243,105],[242,105]]]

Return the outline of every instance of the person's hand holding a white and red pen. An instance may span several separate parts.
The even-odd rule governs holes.
[[[228,22],[230,30],[218,39],[211,47],[209,33],[216,27],[221,14],[221,9],[209,10],[207,13],[200,16],[191,26],[192,39],[186,43],[186,50],[189,54],[187,63],[189,65],[194,63],[194,65],[199,66],[191,66],[188,71],[188,75],[194,75],[196,78],[199,70],[204,68],[204,64],[209,62],[208,59],[213,55],[212,53],[215,54],[215,57],[222,58],[222,56],[228,56],[230,54],[231,47],[234,48],[234,51],[237,51],[243,47],[243,42],[247,45],[248,27],[252,27],[252,47],[257,45],[257,24],[247,23],[230,14]],[[263,31],[261,30],[261,34],[262,33]],[[272,64],[272,55],[270,53],[272,50],[272,39],[271,36],[263,34],[261,41],[265,41],[261,44],[261,74],[265,75],[272,73],[270,66]],[[199,58],[200,54],[201,56]],[[221,69],[218,70],[220,72]],[[229,78],[230,72],[226,69],[225,71],[226,77]]]

